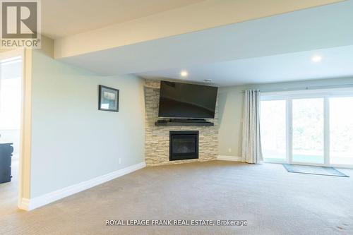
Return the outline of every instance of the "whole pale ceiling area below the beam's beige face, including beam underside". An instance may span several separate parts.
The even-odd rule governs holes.
[[[184,79],[187,69],[216,85],[353,76],[352,12],[344,1],[60,60],[106,76]]]

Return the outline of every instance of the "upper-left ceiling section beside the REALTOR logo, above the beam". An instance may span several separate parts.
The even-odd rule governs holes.
[[[56,39],[204,0],[42,0],[42,34]]]

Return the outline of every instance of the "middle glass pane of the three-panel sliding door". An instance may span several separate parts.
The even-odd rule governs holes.
[[[323,163],[323,98],[292,103],[293,162]]]

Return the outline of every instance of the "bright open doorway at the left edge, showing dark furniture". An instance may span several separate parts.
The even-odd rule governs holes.
[[[0,215],[17,210],[19,194],[20,135],[23,100],[23,59],[0,57]]]

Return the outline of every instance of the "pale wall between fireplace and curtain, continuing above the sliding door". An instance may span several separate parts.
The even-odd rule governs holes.
[[[301,82],[241,85],[220,88],[218,90],[218,123],[220,126],[218,135],[219,155],[233,157],[241,156],[241,119],[243,115],[244,98],[244,93],[242,90],[249,88],[258,88],[261,90],[282,90],[287,88],[302,88],[306,86],[344,84],[353,84],[353,78],[306,80]]]

